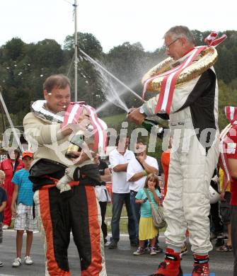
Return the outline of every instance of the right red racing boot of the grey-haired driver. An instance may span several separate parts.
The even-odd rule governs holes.
[[[193,255],[195,262],[192,276],[209,276],[209,255]]]

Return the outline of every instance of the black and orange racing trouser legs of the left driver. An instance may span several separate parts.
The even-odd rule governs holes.
[[[70,275],[67,249],[72,231],[81,260],[81,274],[99,275],[101,272],[101,275],[106,275],[94,188],[76,185],[71,188],[71,197],[68,198],[55,187],[37,192],[35,207],[42,222],[42,235],[45,234],[49,274]]]

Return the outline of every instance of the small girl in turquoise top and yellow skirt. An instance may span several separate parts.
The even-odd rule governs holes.
[[[160,202],[160,192],[158,190],[158,177],[154,173],[150,173],[144,185],[147,192],[151,197],[151,202],[156,208],[158,208]],[[156,236],[158,234],[158,229],[154,226],[152,214],[151,214],[151,204],[146,197],[146,192],[144,188],[140,189],[136,195],[136,203],[141,204],[141,218],[139,222],[139,248],[135,251],[134,255],[141,255],[145,253],[144,244],[147,239],[149,239],[150,255],[156,255]]]

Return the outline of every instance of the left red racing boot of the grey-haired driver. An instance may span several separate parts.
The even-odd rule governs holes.
[[[158,270],[149,276],[183,276],[183,271],[180,268],[180,253],[166,248],[165,260],[160,263]]]

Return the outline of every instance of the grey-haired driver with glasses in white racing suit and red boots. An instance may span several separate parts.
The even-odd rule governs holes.
[[[198,51],[192,33],[185,26],[170,28],[164,35],[164,43],[166,54],[172,58],[171,68]],[[209,275],[208,252],[212,250],[208,217],[209,183],[219,155],[218,88],[214,69],[209,68],[200,76],[175,87],[173,91],[170,87],[166,92],[169,93],[167,102],[166,97],[159,99],[158,94],[128,115],[132,122],[141,125],[146,116],[167,115],[164,113],[168,110],[173,132],[167,194],[163,202],[168,223],[166,257],[154,275],[181,275],[180,251],[187,228],[194,253],[192,276]],[[166,104],[168,109],[163,108]]]

